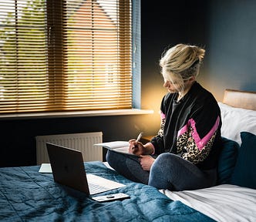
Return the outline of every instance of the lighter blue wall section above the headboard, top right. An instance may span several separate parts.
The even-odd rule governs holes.
[[[210,1],[203,79],[217,99],[224,89],[256,91],[256,1]]]

